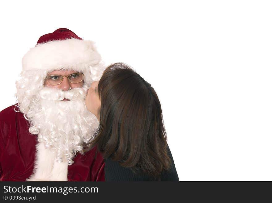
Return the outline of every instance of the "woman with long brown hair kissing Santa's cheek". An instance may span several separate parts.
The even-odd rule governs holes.
[[[85,99],[99,120],[89,143],[105,159],[106,181],[178,181],[155,90],[124,63],[110,65]]]

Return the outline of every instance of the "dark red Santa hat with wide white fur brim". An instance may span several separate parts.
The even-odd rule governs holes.
[[[84,71],[101,61],[94,42],[83,40],[67,28],[40,37],[22,59],[23,71],[74,69]]]

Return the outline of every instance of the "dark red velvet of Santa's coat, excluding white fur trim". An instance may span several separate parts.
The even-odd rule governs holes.
[[[0,112],[0,180],[25,181],[33,173],[37,136],[16,106]],[[18,110],[18,109],[17,109]],[[104,181],[104,160],[96,149],[77,153],[68,166],[68,181]]]

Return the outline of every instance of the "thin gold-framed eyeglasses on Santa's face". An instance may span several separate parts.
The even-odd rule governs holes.
[[[80,83],[83,80],[83,76],[83,73],[74,73],[70,76],[51,75],[47,76],[45,79],[49,84],[57,85],[62,83],[64,77],[67,77],[70,83]]]

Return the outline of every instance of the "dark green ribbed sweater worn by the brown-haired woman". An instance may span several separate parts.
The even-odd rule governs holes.
[[[175,163],[168,148],[168,155],[171,159],[171,167],[169,171],[163,171],[161,174],[161,181],[179,181]],[[130,168],[120,166],[116,161],[110,158],[105,159],[105,181],[156,181],[154,178],[143,174],[134,173]]]

